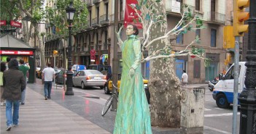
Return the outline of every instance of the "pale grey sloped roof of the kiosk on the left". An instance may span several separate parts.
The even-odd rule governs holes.
[[[14,36],[9,34],[1,35],[0,47],[1,48],[28,48],[28,49],[33,48],[29,46],[27,43],[25,43],[24,41],[21,41],[18,38],[15,38]]]

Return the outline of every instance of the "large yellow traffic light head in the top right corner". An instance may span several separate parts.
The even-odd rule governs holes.
[[[248,32],[248,25],[244,25],[244,21],[249,19],[249,12],[244,12],[245,7],[249,7],[249,0],[233,1],[233,35],[243,36],[244,32]]]

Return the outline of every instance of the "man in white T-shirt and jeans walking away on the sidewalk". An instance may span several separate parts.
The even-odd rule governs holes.
[[[50,63],[42,71],[42,79],[44,79],[44,99],[51,99],[50,93],[52,91],[53,79],[55,78],[55,71],[51,67]]]

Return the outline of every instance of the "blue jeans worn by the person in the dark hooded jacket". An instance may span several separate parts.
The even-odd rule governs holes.
[[[12,114],[12,105],[13,105],[13,114]],[[18,125],[19,109],[20,109],[20,101],[6,100],[7,127],[12,126],[12,124]]]

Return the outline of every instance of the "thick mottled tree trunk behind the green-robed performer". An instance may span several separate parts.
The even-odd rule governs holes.
[[[163,1],[155,7],[158,14],[166,14],[163,7]],[[163,16],[163,20],[166,20],[166,15]],[[150,40],[163,36],[166,30],[166,23],[153,25],[150,30]],[[168,43],[167,38],[153,43],[150,46],[149,54],[152,54],[154,50],[163,49]],[[149,82],[151,125],[155,127],[180,127],[181,87],[179,78],[174,72],[174,58],[151,60]]]

